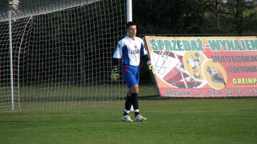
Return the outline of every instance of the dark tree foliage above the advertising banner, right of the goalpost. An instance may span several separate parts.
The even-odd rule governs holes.
[[[137,0],[133,21],[140,34],[255,34],[257,6],[249,4],[243,0]]]

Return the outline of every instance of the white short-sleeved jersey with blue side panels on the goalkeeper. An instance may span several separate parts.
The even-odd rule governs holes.
[[[144,48],[143,40],[141,38],[135,37],[133,40],[126,36],[119,41],[113,57],[117,59],[121,59],[123,57],[122,65],[138,66],[140,63],[140,57],[146,54],[147,51]]]

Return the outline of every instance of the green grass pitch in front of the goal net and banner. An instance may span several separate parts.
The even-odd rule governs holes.
[[[123,110],[0,113],[0,143],[257,143],[257,99],[140,99]],[[131,113],[134,117],[134,113]]]

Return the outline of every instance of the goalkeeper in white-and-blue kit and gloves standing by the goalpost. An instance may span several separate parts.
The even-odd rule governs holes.
[[[149,69],[155,74],[155,68],[151,64],[151,61],[147,55],[147,51],[144,48],[143,40],[136,37],[137,28],[133,22],[126,24],[127,36],[119,41],[117,49],[114,53],[114,67],[112,70],[111,78],[113,81],[119,79],[118,73],[118,59],[122,60],[121,73],[125,79],[128,87],[127,98],[125,101],[125,110],[122,116],[124,121],[133,121],[128,113],[130,113],[131,106],[134,107],[135,121],[144,121],[146,118],[139,114],[138,106],[138,82],[139,82],[139,63],[140,57],[142,57],[148,64]]]

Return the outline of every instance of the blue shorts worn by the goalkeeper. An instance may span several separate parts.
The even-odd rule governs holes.
[[[121,74],[125,79],[127,87],[138,84],[139,82],[139,66],[122,65]]]

